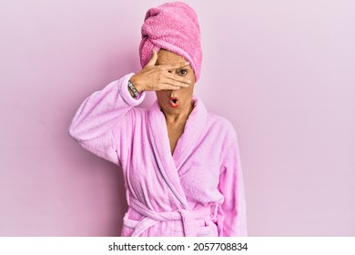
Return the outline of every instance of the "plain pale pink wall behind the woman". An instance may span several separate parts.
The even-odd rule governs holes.
[[[67,128],[87,96],[140,69],[140,26],[162,3],[1,1],[1,236],[119,235],[121,171]],[[187,3],[196,93],[238,131],[249,235],[355,236],[354,2]]]

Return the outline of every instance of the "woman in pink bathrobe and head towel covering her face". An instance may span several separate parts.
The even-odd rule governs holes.
[[[184,3],[147,11],[143,69],[87,97],[70,135],[121,166],[128,210],[122,236],[245,236],[246,203],[232,125],[193,96],[202,53]],[[156,91],[150,109],[136,107]]]

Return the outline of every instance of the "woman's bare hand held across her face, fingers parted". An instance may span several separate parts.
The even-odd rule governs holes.
[[[188,62],[181,62],[173,65],[157,65],[157,52],[153,50],[152,57],[142,70],[132,76],[130,81],[137,88],[138,92],[177,90],[181,87],[188,87],[191,81],[184,76],[177,76],[173,70],[188,66]]]

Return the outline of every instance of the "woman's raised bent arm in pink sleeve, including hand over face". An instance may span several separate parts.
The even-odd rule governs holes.
[[[185,77],[170,73],[171,69],[187,66],[188,62],[158,66],[156,63],[157,52],[153,51],[147,65],[137,74],[123,76],[87,97],[73,118],[70,136],[97,156],[119,164],[118,155],[123,143],[130,144],[136,120],[130,110],[144,100],[144,91],[176,90],[191,84]],[[134,98],[129,92],[128,80],[137,88],[139,97]]]

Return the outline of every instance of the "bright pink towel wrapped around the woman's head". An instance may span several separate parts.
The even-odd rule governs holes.
[[[141,66],[146,66],[153,49],[161,48],[184,57],[190,63],[198,81],[202,50],[198,15],[182,2],[166,3],[147,10],[139,45]]]

